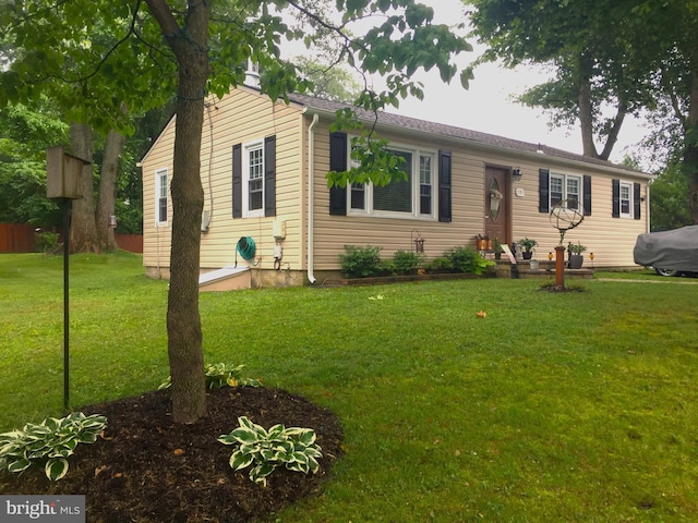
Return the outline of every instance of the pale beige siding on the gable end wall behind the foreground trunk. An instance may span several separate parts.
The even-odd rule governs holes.
[[[304,253],[301,251],[304,220],[299,206],[303,198],[303,150],[302,112],[298,107],[285,104],[272,104],[267,97],[252,89],[236,89],[224,99],[212,99],[204,113],[202,132],[201,178],[204,190],[204,210],[212,212],[208,232],[202,233],[201,269],[217,269],[234,264],[236,244],[241,236],[252,236],[256,246],[255,263],[260,269],[273,269],[273,223],[286,221],[286,239],[282,241],[282,267],[301,270]],[[214,130],[213,143],[210,129]],[[160,252],[157,254],[156,231],[153,219],[155,208],[154,172],[161,166],[171,165],[173,123],[165,131],[161,139],[148,153],[143,165],[144,198],[144,264],[147,267],[168,266],[169,228],[167,238],[160,238]],[[232,147],[253,141],[264,141],[276,136],[276,216],[232,218]],[[171,172],[171,168],[170,168]],[[152,193],[148,196],[146,193]],[[244,193],[243,193],[244,194]],[[171,212],[171,204],[170,204]],[[146,227],[147,226],[147,227]],[[160,231],[161,232],[161,231]],[[160,234],[160,236],[163,236]],[[151,248],[146,247],[151,246]],[[238,265],[251,265],[238,256]]]

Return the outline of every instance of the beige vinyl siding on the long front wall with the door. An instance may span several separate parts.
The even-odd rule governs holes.
[[[398,250],[412,248],[411,241],[419,231],[424,239],[424,253],[428,259],[441,256],[457,245],[474,245],[476,234],[484,232],[484,171],[485,167],[512,169],[519,167],[522,179],[513,182],[510,193],[512,236],[518,241],[524,236],[538,240],[535,257],[545,259],[554,251],[559,234],[550,222],[547,214],[539,212],[539,170],[592,178],[592,215],[586,217],[578,228],[567,232],[568,241],[587,245],[585,256],[594,253],[597,267],[631,267],[633,246],[637,234],[647,229],[647,205],[641,205],[641,219],[612,218],[612,180],[614,178],[641,184],[641,195],[647,194],[647,180],[633,178],[618,170],[607,172],[595,166],[580,167],[574,163],[554,161],[541,155],[531,160],[507,149],[498,151],[492,148],[478,148],[464,142],[445,138],[410,138],[395,133],[381,133],[392,142],[422,149],[447,149],[452,151],[452,222],[418,218],[381,218],[370,216],[330,216],[329,192],[325,173],[329,170],[329,127],[328,121],[321,121],[315,132],[315,270],[336,270],[340,267],[338,255],[345,245],[381,246],[382,257],[390,258]],[[399,148],[399,147],[398,147]],[[434,171],[437,177],[437,170]],[[516,196],[515,190],[522,188],[524,196]],[[433,205],[437,206],[434,199]],[[589,264],[589,260],[587,262]]]

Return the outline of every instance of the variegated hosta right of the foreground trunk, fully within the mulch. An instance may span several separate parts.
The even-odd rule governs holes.
[[[246,416],[239,417],[238,424],[238,428],[220,436],[218,441],[237,447],[230,466],[233,471],[252,466],[250,479],[254,483],[266,486],[269,474],[281,465],[304,474],[315,474],[320,469],[317,459],[323,454],[313,429],[278,424],[266,430]]]

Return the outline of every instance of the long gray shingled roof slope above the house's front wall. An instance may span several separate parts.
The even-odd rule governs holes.
[[[323,112],[334,113],[340,109],[347,107],[353,107],[348,104],[341,104],[332,100],[325,100],[323,98],[316,98],[308,95],[291,94],[289,99],[296,104],[299,104],[311,109],[315,109]],[[360,120],[372,122],[375,119],[374,113],[362,109],[357,109],[357,115]],[[419,120],[417,118],[401,117],[390,112],[378,112],[378,124],[389,125],[393,127],[408,129],[416,132],[428,133],[435,136],[446,136],[448,138],[462,139],[466,142],[472,142],[474,144],[481,144],[490,147],[501,147],[503,149],[510,149],[517,153],[539,153],[544,155],[561,158],[565,160],[581,161],[585,163],[592,163],[595,166],[611,167],[615,169],[623,169],[636,174],[642,174],[640,171],[630,169],[618,163],[611,161],[599,160],[597,158],[590,158],[582,155],[577,155],[563,149],[556,149],[543,144],[529,144],[527,142],[520,142],[518,139],[505,138],[494,134],[481,133],[478,131],[471,131],[469,129],[456,127],[454,125],[445,125],[443,123],[429,122],[426,120]]]

